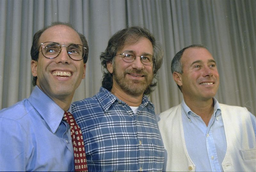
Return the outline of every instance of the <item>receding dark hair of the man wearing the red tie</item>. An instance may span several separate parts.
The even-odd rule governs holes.
[[[41,30],[37,31],[33,37],[33,43],[32,43],[32,47],[30,50],[30,55],[31,55],[32,60],[38,61],[38,54],[39,54],[39,48],[40,48],[40,43],[38,43],[38,41],[39,41],[40,36],[43,34],[43,32],[46,29],[53,27],[53,26],[57,26],[57,25],[65,25],[65,26],[68,26],[71,29],[76,31],[76,29],[74,29],[74,27],[71,24],[66,23],[66,22],[60,22],[60,21],[52,22],[51,25],[46,26],[46,27],[42,28]],[[84,55],[84,59],[83,59],[84,63],[86,63],[87,59],[88,59],[89,47],[88,47],[85,36],[77,31],[76,31],[76,33],[80,36],[83,46],[86,47],[85,55]],[[34,76],[33,81],[32,81],[33,86],[36,86],[36,80],[37,80],[37,76]]]

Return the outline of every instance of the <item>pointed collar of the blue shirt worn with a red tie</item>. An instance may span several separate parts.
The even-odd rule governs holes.
[[[37,112],[47,123],[52,133],[58,129],[63,118],[64,110],[60,108],[50,97],[48,97],[37,86],[32,91],[28,101],[35,107]],[[71,108],[69,107],[69,110]]]

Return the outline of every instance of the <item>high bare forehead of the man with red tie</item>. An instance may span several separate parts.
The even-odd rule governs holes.
[[[60,44],[76,43],[82,44],[77,32],[65,25],[56,25],[46,29],[39,38],[39,43],[56,42]]]

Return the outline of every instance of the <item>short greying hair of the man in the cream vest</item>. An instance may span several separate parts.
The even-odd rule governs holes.
[[[173,72],[178,72],[179,74],[183,74],[183,66],[181,64],[181,57],[184,53],[184,51],[188,48],[191,48],[191,47],[198,47],[198,48],[205,48],[206,50],[207,47],[202,45],[202,44],[193,44],[193,45],[189,45],[185,48],[183,48],[182,50],[180,50],[179,52],[177,52],[174,56],[174,58],[172,59],[172,65],[171,65],[171,69],[172,69],[172,74]],[[178,84],[177,84],[178,85]],[[179,89],[180,89],[180,86],[178,85]],[[180,89],[181,90],[181,89]]]

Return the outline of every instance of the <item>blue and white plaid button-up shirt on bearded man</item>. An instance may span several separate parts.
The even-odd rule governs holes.
[[[104,88],[72,104],[88,171],[162,171],[164,145],[153,104],[146,96],[136,114]]]

